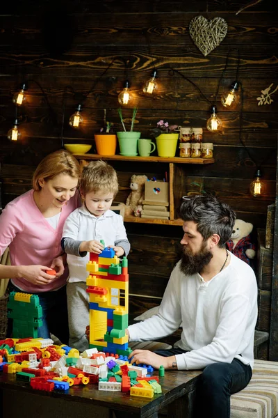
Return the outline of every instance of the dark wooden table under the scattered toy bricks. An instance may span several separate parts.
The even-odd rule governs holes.
[[[171,418],[190,417],[190,394],[200,371],[165,371],[159,378],[162,394],[138,398],[123,392],[104,392],[98,385],[73,386],[67,392],[42,392],[15,375],[0,374],[3,418],[111,418],[112,410],[126,411],[142,418],[157,418],[167,407]],[[158,376],[158,373],[154,373]]]

